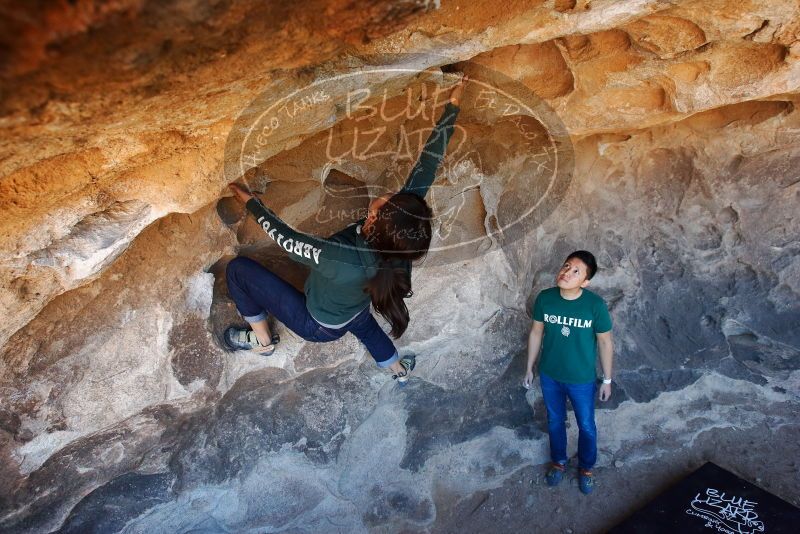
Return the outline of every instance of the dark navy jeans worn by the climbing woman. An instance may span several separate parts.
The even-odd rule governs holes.
[[[378,367],[389,367],[400,357],[389,336],[369,311],[369,306],[341,328],[319,324],[306,308],[306,296],[260,263],[239,256],[225,269],[228,294],[245,321],[255,323],[271,313],[292,332],[307,341],[333,341],[351,332],[375,359]]]

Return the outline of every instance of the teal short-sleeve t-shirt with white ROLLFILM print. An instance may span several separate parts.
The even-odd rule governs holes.
[[[540,373],[567,384],[597,379],[595,336],[611,330],[611,316],[602,297],[583,289],[580,297],[567,300],[558,287],[551,287],[536,296],[533,319],[544,323]]]

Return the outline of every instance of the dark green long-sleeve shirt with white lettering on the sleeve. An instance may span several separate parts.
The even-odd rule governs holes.
[[[458,112],[458,106],[445,105],[401,192],[425,197],[444,158]],[[364,288],[377,274],[379,258],[361,234],[364,219],[323,239],[294,230],[255,197],[247,202],[247,209],[291,259],[311,268],[304,289],[306,307],[314,319],[342,325],[370,305]],[[410,275],[411,262],[403,263]]]

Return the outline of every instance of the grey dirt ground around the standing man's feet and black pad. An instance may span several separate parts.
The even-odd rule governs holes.
[[[663,444],[654,440],[639,446],[657,450]],[[589,496],[580,493],[574,470],[560,486],[550,488],[544,481],[546,466],[524,468],[491,491],[466,498],[441,495],[431,531],[605,532],[707,461],[800,505],[800,424],[761,425],[715,429],[698,436],[691,448],[596,469],[595,491]],[[574,469],[576,463],[573,458],[570,466]]]

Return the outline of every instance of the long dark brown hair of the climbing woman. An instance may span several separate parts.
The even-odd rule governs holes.
[[[411,278],[402,262],[414,261],[428,253],[431,244],[431,216],[425,200],[414,193],[396,193],[381,206],[367,237],[380,258],[378,274],[364,289],[372,305],[392,325],[395,339],[408,328],[408,308],[403,300],[411,296]],[[399,265],[398,265],[399,264]]]

